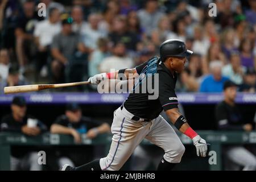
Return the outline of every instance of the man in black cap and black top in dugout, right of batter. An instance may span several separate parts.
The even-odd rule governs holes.
[[[224,84],[224,101],[220,102],[215,110],[218,130],[251,131],[253,129],[252,122],[244,121],[235,102],[236,96],[237,85],[232,81],[226,81]],[[231,146],[226,147],[224,151],[227,158],[234,163],[233,167],[242,166],[243,171],[256,169],[256,157],[245,147]]]

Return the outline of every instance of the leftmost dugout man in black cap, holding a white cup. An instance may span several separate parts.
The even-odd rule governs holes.
[[[47,130],[47,127],[31,115],[26,114],[26,100],[22,96],[15,96],[11,103],[11,114],[5,115],[1,121],[2,132],[15,132],[35,137]],[[11,170],[39,171],[38,152],[20,150],[14,147],[11,152]]]

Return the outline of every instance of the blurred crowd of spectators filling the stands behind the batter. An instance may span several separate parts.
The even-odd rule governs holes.
[[[222,92],[226,80],[256,89],[256,1],[1,0],[0,89],[84,81],[132,68],[181,39],[193,55],[177,92]],[[46,5],[46,16],[39,3]],[[94,91],[74,87],[72,91]]]

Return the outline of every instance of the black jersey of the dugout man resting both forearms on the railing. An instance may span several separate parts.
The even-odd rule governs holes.
[[[101,122],[93,121],[93,119],[89,117],[82,117],[79,122],[70,122],[66,115],[61,115],[54,123],[65,127],[71,127],[77,130],[80,134],[86,133],[93,127],[98,127],[102,124]]]

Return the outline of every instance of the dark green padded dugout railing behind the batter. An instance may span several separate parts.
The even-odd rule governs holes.
[[[198,131],[200,136],[210,143],[209,151],[216,152],[216,164],[209,164],[210,170],[222,169],[222,145],[225,144],[255,144],[256,132],[238,131]],[[181,142],[191,145],[192,141],[187,136],[178,133]],[[102,134],[95,139],[88,139],[82,135],[82,143],[79,145],[105,145],[105,153],[108,154],[112,135]],[[142,144],[151,144],[144,139]],[[44,133],[38,137],[27,137],[18,133],[0,133],[0,170],[10,169],[11,146],[63,146],[78,145],[69,135]],[[195,156],[196,158],[197,156]],[[200,165],[200,164],[199,164]],[[193,169],[191,169],[193,170]]]

